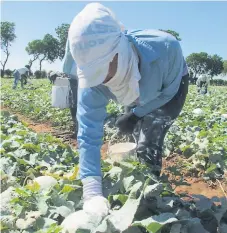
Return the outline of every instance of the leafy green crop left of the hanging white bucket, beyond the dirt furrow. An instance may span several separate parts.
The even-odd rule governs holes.
[[[1,97],[4,106],[18,111],[33,120],[49,121],[53,126],[70,128],[72,125],[70,112],[51,107],[51,85],[47,79],[32,80],[33,85],[27,85],[24,90],[12,90],[12,79],[2,79]]]

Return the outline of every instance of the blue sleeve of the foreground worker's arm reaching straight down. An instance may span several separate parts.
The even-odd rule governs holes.
[[[98,87],[78,88],[77,120],[80,178],[101,176],[100,149],[109,98]]]

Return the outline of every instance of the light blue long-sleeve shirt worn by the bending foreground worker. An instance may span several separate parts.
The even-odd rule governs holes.
[[[133,112],[143,117],[169,102],[177,93],[181,78],[187,72],[179,42],[159,30],[125,31],[139,56],[140,97]],[[71,72],[75,64],[66,46],[63,72]],[[78,88],[77,120],[80,153],[80,177],[101,176],[100,148],[106,105],[115,96],[104,85]]]

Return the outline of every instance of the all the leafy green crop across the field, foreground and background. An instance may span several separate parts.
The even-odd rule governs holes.
[[[1,81],[2,106],[35,121],[70,128],[69,110],[51,107],[47,80],[32,80],[32,85],[15,91],[11,79]],[[209,95],[200,96],[190,86],[186,105],[165,139],[165,156],[181,155],[184,160],[178,168],[203,171],[206,180],[223,180],[227,170],[226,93],[226,87],[211,87]],[[197,108],[202,111],[196,113]],[[121,110],[113,103],[108,106],[110,117]],[[115,132],[108,121],[105,130],[106,139]],[[51,134],[31,131],[16,115],[2,111],[1,155],[2,232],[61,232],[64,218],[82,207],[82,185],[76,179],[78,152]],[[187,195],[179,196],[167,180],[157,180],[136,161],[102,161],[102,171],[104,195],[113,212],[93,226],[93,230],[98,227],[93,232],[213,233],[219,229],[226,233],[224,197],[184,199]],[[36,182],[40,176],[48,176],[50,181],[45,177]]]

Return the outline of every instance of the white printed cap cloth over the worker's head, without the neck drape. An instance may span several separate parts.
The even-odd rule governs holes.
[[[69,28],[69,44],[80,87],[97,86],[104,81],[120,36],[120,23],[99,3],[88,4],[74,18]]]

